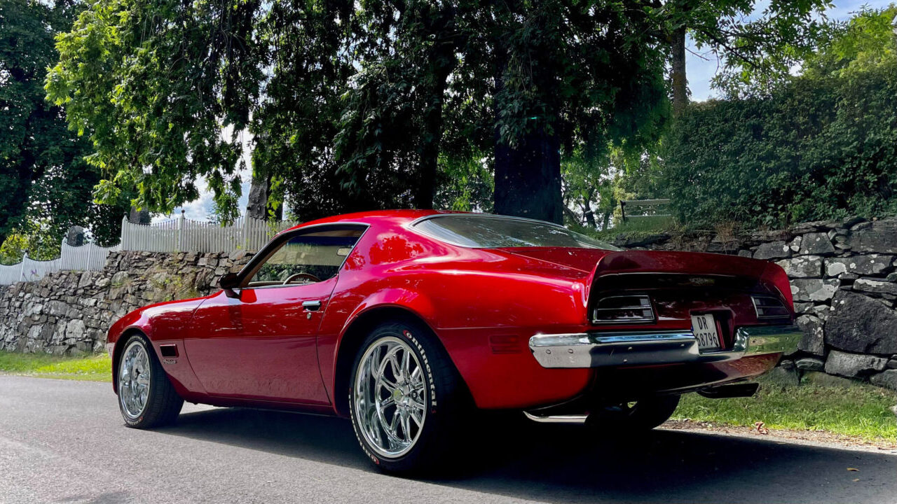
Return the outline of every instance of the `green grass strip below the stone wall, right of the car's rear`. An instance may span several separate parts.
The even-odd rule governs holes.
[[[824,378],[824,377],[823,377]],[[897,442],[897,419],[891,408],[897,395],[884,388],[856,383],[829,385],[805,377],[799,387],[760,378],[753,397],[707,399],[687,394],[674,419],[753,426],[770,429],[824,430],[867,440]]]

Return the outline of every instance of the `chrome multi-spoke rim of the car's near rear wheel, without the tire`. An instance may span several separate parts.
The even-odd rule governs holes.
[[[353,413],[374,451],[396,458],[414,448],[427,416],[427,388],[408,343],[395,336],[371,343],[355,371],[353,394]]]

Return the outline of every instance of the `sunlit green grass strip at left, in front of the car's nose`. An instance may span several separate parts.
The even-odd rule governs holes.
[[[40,378],[111,381],[112,361],[105,354],[59,356],[0,352],[0,373]]]

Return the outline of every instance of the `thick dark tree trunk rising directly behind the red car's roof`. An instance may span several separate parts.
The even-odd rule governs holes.
[[[495,134],[495,213],[563,222],[561,143],[539,129],[514,148]]]

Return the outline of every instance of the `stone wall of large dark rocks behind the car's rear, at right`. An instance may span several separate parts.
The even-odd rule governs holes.
[[[806,222],[788,230],[618,237],[625,248],[693,250],[773,261],[791,279],[800,352],[783,367],[897,389],[897,219]]]

